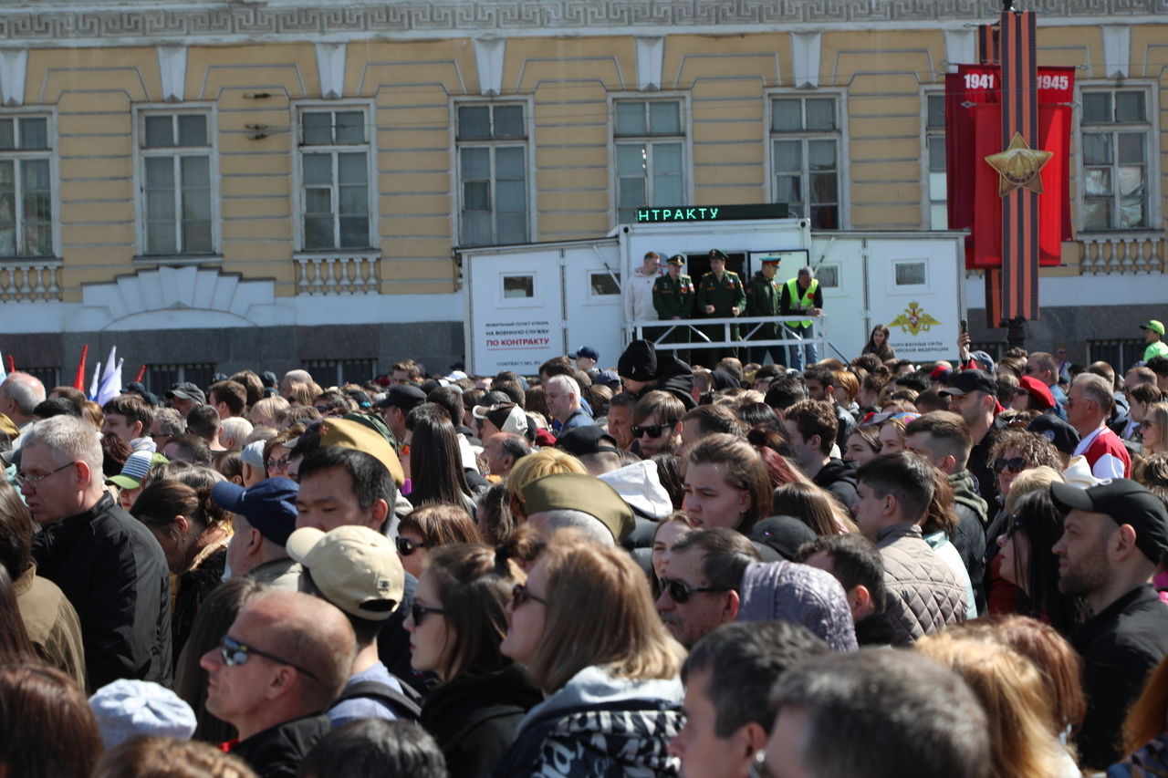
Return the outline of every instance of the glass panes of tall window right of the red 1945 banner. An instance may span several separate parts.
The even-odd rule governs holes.
[[[1083,229],[1149,228],[1148,93],[1084,90],[1082,116]]]

